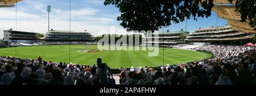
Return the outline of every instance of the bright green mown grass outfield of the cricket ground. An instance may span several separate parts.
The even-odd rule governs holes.
[[[71,45],[71,62],[76,64],[97,64],[97,58],[102,58],[102,63],[107,63],[112,68],[144,67],[163,65],[163,50],[159,49],[158,56],[148,56],[149,50],[143,51],[99,51],[98,53],[81,53],[80,50],[98,50],[97,45]],[[53,62],[69,62],[69,45],[27,46],[16,47],[17,57],[37,59]],[[0,49],[0,55],[15,56],[15,47]],[[210,58],[212,55],[191,50],[165,49],[164,65],[179,64]]]

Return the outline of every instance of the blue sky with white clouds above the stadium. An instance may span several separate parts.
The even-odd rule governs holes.
[[[83,32],[86,30],[93,36],[116,32],[126,34],[117,16],[120,15],[118,8],[108,5],[104,6],[104,0],[71,0],[71,30]],[[69,0],[23,0],[17,3],[17,22],[15,22],[15,9],[0,8],[0,38],[3,38],[3,30],[10,28],[29,30],[45,34],[48,31],[47,5],[51,5],[50,29],[69,30]],[[198,20],[187,20],[187,31],[193,32],[198,28],[208,28],[226,25],[227,21],[218,18],[215,12],[209,18],[198,18]],[[164,28],[171,31],[184,29],[185,21],[172,24]],[[163,30],[163,29],[159,29]]]

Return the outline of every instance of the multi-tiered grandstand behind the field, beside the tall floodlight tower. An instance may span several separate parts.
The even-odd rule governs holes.
[[[46,42],[53,44],[62,44],[69,42],[78,42],[79,44],[92,44],[94,37],[88,32],[69,32],[68,30],[53,30],[46,33]],[[73,43],[72,43],[73,44]]]

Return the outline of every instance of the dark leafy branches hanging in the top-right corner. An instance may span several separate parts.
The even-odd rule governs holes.
[[[241,13],[241,22],[249,21],[251,28],[256,30],[256,1],[228,0],[230,3],[236,1],[236,9]]]

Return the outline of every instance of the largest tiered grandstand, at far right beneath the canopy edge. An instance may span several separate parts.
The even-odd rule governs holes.
[[[230,25],[223,27],[210,27],[210,28],[199,28],[195,32],[189,34],[185,39],[189,43],[193,42],[204,42],[209,44],[232,44],[242,45],[246,42],[251,42],[253,34],[238,32],[232,29]]]

